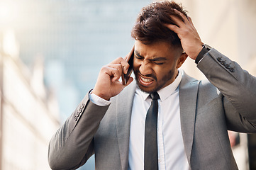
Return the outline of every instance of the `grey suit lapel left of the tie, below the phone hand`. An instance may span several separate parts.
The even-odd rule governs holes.
[[[128,169],[128,152],[130,141],[130,117],[136,83],[133,82],[123,89],[116,98],[116,130],[122,169]]]

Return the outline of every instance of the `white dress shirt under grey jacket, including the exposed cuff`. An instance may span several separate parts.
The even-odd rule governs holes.
[[[182,74],[179,72],[178,77],[172,84],[157,91],[160,96],[157,118],[159,169],[190,169],[184,150],[180,123],[179,83],[181,80]],[[149,94],[140,91],[138,88],[135,90],[130,121],[128,155],[128,169],[131,170],[144,169],[145,118],[152,100],[148,96]],[[102,98],[96,95],[90,95],[90,100],[101,106],[106,106],[110,103],[109,101],[102,101]]]

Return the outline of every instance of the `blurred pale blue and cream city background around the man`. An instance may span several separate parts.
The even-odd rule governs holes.
[[[133,46],[150,0],[0,0],[0,170],[45,170],[48,142],[94,87],[99,69]],[[177,0],[201,40],[256,75],[255,0]],[[194,61],[183,69],[204,79]],[[240,169],[256,169],[256,137],[230,133]],[[94,169],[94,157],[80,169]]]

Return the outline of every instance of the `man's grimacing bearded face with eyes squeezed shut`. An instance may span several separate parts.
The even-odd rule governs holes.
[[[171,84],[187,55],[167,42],[145,45],[135,41],[133,71],[142,91],[151,93]]]

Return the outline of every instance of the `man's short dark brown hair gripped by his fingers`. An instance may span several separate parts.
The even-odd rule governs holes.
[[[182,47],[177,33],[163,25],[163,23],[176,25],[169,16],[177,16],[183,21],[174,9],[187,16],[187,11],[183,10],[182,5],[174,1],[157,1],[145,6],[138,15],[135,26],[131,30],[131,36],[144,44],[164,41],[175,47]]]

